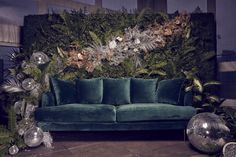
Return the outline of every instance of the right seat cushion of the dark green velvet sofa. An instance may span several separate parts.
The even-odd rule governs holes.
[[[175,106],[161,103],[140,103],[118,106],[117,122],[188,120],[196,114],[192,106]]]

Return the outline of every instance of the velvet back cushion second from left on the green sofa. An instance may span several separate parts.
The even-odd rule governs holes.
[[[77,100],[79,103],[100,104],[103,97],[103,80],[101,78],[77,79]]]

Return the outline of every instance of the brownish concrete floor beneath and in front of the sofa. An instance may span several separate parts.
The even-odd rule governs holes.
[[[60,132],[52,133],[54,148],[44,146],[21,151],[15,157],[191,157],[199,155],[183,133]]]

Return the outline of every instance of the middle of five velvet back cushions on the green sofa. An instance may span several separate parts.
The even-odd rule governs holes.
[[[103,103],[122,105],[130,103],[130,78],[103,79]]]

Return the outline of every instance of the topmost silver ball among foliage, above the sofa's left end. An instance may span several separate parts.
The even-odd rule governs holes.
[[[35,52],[32,54],[30,61],[37,65],[42,65],[49,62],[48,56],[43,52]]]

